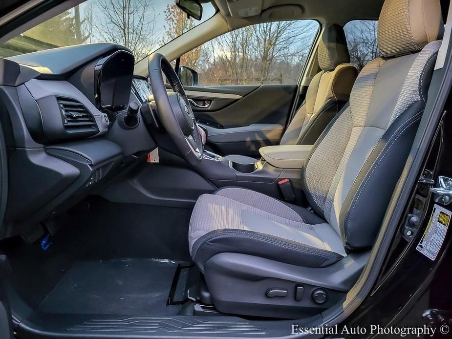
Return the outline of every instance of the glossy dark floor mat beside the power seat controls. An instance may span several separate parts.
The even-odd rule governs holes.
[[[168,305],[178,263],[127,258],[77,262],[45,297],[45,313],[175,315]]]

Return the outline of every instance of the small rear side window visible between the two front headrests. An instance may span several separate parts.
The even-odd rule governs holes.
[[[380,56],[377,46],[378,21],[353,20],[344,26],[350,61],[358,71],[371,60]]]

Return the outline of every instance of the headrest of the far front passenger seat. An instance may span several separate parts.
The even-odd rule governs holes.
[[[325,27],[317,52],[319,66],[324,71],[331,71],[339,64],[350,62],[344,29],[336,24]]]

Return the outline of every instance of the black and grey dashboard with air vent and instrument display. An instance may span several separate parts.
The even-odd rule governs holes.
[[[124,125],[130,101],[146,102],[125,47],[94,43],[0,58],[0,122],[9,197],[0,239],[64,212],[156,147],[144,119]]]

